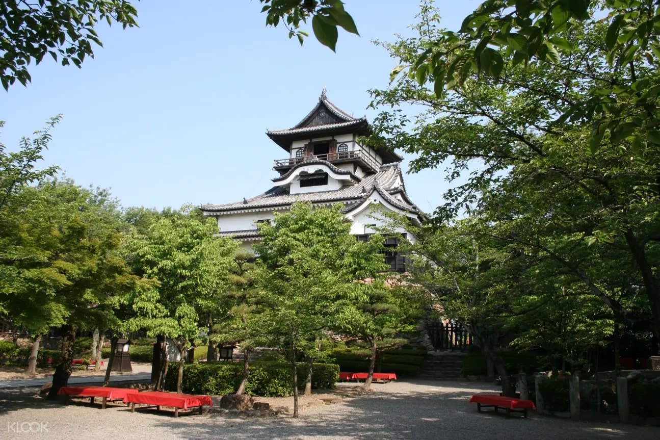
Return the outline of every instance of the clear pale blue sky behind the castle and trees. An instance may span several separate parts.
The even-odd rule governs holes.
[[[63,114],[46,163],[82,186],[110,188],[125,207],[158,209],[271,188],[273,160],[286,152],[266,129],[297,124],[324,87],[337,106],[372,120],[367,90],[387,87],[395,66],[372,40],[410,34],[418,13],[416,0],[345,0],[361,36],[340,31],[335,54],[313,36],[300,47],[283,27],[265,27],[257,0],[134,4],[140,27],[99,24],[104,47],[82,69],[46,57],[31,67],[28,87],[0,91],[0,142],[15,149],[22,135]],[[436,1],[451,29],[478,5]],[[442,170],[405,182],[422,210],[442,204]]]

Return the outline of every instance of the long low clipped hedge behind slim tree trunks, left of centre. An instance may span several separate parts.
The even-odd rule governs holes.
[[[304,387],[306,364],[298,365],[298,385]],[[165,388],[176,390],[178,363],[170,364]],[[232,394],[238,390],[243,376],[243,364],[238,362],[209,362],[183,364],[184,392],[192,394]],[[312,388],[332,388],[339,379],[339,365],[314,363]],[[250,363],[246,393],[263,397],[286,397],[293,394],[290,366],[271,361]]]

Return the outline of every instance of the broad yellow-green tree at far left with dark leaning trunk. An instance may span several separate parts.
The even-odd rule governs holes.
[[[9,234],[0,246],[2,278],[9,287],[5,305],[34,335],[61,328],[63,357],[49,393],[57,398],[71,375],[77,330],[116,324],[114,309],[137,279],[117,252],[119,212],[106,190],[53,178],[23,187],[15,206],[18,201],[20,215],[9,218]],[[37,346],[38,338],[32,358]]]

